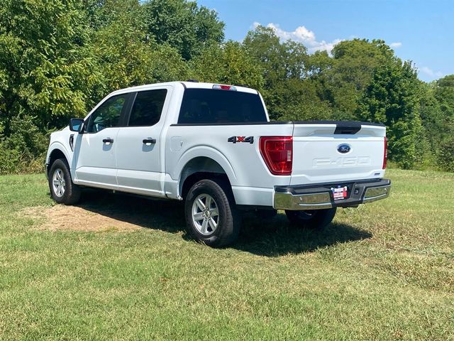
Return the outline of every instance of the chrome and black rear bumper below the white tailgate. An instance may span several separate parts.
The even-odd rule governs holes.
[[[348,197],[334,200],[331,188],[347,186]],[[389,196],[391,180],[358,180],[345,183],[275,187],[273,207],[278,210],[321,210],[332,207],[358,207]]]

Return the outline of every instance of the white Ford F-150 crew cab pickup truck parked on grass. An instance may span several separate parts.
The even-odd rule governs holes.
[[[112,92],[71,119],[50,136],[46,175],[66,205],[83,187],[184,200],[188,231],[219,247],[238,237],[241,210],[322,228],[336,207],[384,199],[386,150],[382,124],[270,121],[256,90],[167,82]]]

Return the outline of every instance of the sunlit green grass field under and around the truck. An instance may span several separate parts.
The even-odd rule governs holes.
[[[43,175],[1,176],[0,340],[454,340],[454,174],[387,175],[388,200],[323,232],[249,215],[228,249],[175,202],[62,215]]]

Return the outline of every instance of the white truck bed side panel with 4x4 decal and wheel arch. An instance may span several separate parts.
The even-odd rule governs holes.
[[[165,169],[178,181],[189,161],[202,156],[216,161],[228,175],[239,205],[272,205],[275,185],[289,185],[290,176],[272,175],[260,155],[260,136],[292,136],[293,124],[180,125],[167,131]],[[232,136],[253,137],[253,143],[228,142]]]

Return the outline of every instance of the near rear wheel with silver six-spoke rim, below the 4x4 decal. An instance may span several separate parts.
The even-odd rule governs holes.
[[[210,247],[232,244],[240,232],[240,215],[228,185],[200,180],[189,190],[184,203],[187,231],[197,242]]]

